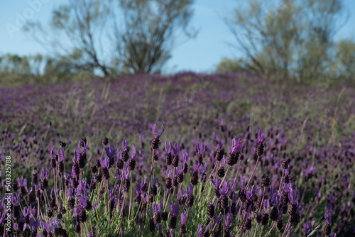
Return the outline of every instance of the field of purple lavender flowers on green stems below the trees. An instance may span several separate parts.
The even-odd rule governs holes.
[[[354,94],[246,73],[0,87],[0,233],[355,236]]]

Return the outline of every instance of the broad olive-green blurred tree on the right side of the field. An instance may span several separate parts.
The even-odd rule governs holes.
[[[342,0],[251,0],[224,18],[248,70],[309,82],[328,73]]]

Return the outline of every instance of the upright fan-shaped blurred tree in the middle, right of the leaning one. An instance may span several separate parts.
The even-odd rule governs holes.
[[[124,70],[159,71],[170,58],[175,38],[187,32],[192,0],[119,0],[124,27],[115,25],[115,43]]]

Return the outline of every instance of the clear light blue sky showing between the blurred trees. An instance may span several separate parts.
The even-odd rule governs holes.
[[[41,45],[28,38],[22,31],[22,20],[26,19],[21,16],[27,14],[29,20],[45,24],[50,20],[52,9],[65,2],[65,0],[0,1],[0,54],[45,53]],[[226,43],[233,42],[234,38],[220,16],[241,2],[241,0],[195,0],[195,14],[190,26],[199,29],[199,34],[196,38],[174,48],[173,57],[165,65],[165,72],[182,70],[212,72],[222,57],[239,56],[239,52]],[[344,0],[344,4],[350,18],[337,34],[337,38],[355,39],[355,1]],[[31,11],[31,8],[35,11]]]

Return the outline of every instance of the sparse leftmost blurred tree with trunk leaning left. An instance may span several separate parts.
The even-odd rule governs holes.
[[[109,1],[70,0],[53,11],[50,31],[38,22],[28,23],[25,29],[56,57],[68,60],[73,68],[99,70],[107,76],[102,30],[108,16]]]

